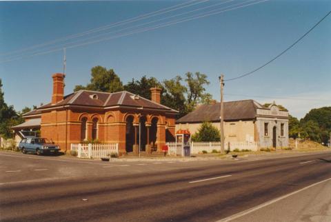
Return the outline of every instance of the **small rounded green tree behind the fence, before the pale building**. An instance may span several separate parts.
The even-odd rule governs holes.
[[[196,142],[220,141],[220,139],[219,130],[210,122],[202,123],[198,132],[192,136],[192,140]]]

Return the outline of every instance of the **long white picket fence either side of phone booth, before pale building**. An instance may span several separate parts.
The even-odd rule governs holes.
[[[168,145],[169,155],[180,155],[183,156],[183,146],[181,143],[171,142],[166,143]],[[224,144],[225,150],[228,150],[229,143]],[[259,143],[257,142],[230,142],[230,150],[259,150]],[[199,154],[203,151],[212,152],[212,150],[221,150],[221,142],[192,142],[190,144],[190,153]]]

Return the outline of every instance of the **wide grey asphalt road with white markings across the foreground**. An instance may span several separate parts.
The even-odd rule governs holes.
[[[300,221],[307,215],[298,209],[314,202],[326,208],[320,214],[330,207],[331,215],[331,183],[323,181],[331,178],[331,152],[188,162],[82,161],[0,152],[0,172],[1,221]],[[328,220],[325,215],[314,219]]]

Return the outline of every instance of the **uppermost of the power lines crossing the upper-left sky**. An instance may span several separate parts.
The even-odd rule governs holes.
[[[172,11],[175,11],[175,10],[179,10],[181,8],[187,8],[187,7],[194,6],[196,4],[203,3],[205,1],[210,1],[210,0],[203,0],[203,1],[197,1],[197,2],[194,2],[194,1],[197,1],[197,0],[187,1],[187,2],[184,2],[184,3],[177,4],[175,6],[170,6],[168,8],[163,8],[161,10],[157,10],[157,11],[154,11],[154,12],[149,12],[147,14],[141,14],[138,17],[133,17],[131,19],[126,19],[126,20],[123,20],[123,21],[118,21],[118,22],[115,22],[115,23],[110,23],[110,24],[108,24],[106,26],[101,26],[99,28],[94,28],[94,29],[91,29],[91,30],[87,30],[85,32],[77,33],[77,34],[71,34],[71,35],[69,35],[67,37],[62,37],[62,38],[59,38],[59,39],[54,39],[54,40],[48,41],[46,43],[37,44],[37,45],[34,45],[34,46],[30,46],[28,48],[23,48],[21,50],[14,50],[12,52],[6,52],[6,53],[0,54],[0,55],[3,56],[3,55],[7,55],[7,54],[16,54],[17,52],[24,52],[24,51],[27,51],[27,50],[31,50],[33,48],[40,48],[42,46],[48,46],[50,44],[57,43],[59,41],[66,41],[68,39],[74,39],[74,38],[77,38],[77,37],[82,37],[82,36],[85,36],[85,35],[88,35],[88,34],[91,34],[91,33],[94,33],[94,32],[101,32],[102,30],[107,30],[109,28],[114,28],[114,27],[117,27],[117,26],[122,26],[124,24],[132,23],[132,22],[135,22],[135,21],[140,21],[140,20],[143,20],[143,19],[147,19],[149,17],[155,17],[155,16],[158,16],[160,14],[172,12]],[[179,7],[179,6],[181,6],[181,7]]]

